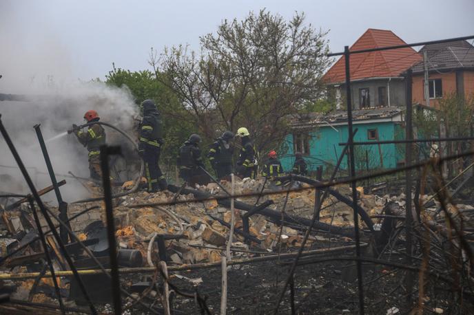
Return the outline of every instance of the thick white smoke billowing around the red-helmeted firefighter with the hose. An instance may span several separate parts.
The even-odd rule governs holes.
[[[43,98],[45,98],[43,100]],[[108,122],[122,129],[129,135],[133,133],[135,105],[130,93],[125,89],[108,87],[104,83],[79,83],[67,90],[56,91],[48,96],[30,96],[31,101],[0,101],[1,120],[5,125],[14,145],[17,147],[30,175],[38,188],[50,185],[45,161],[39,147],[37,135],[33,129],[41,124],[43,138],[48,140],[55,135],[71,129],[72,124],[83,124],[85,111],[95,109],[101,121]],[[107,143],[129,146],[127,140],[112,129],[107,129]],[[74,134],[65,135],[46,143],[55,173],[68,174],[69,171],[79,177],[88,177],[87,149],[77,141]],[[0,140],[0,174],[8,174],[17,185],[11,182],[0,182],[0,191],[10,193],[27,193],[23,177],[16,166],[6,142]],[[61,176],[58,180],[61,180]],[[123,179],[125,180],[125,179]],[[66,201],[85,197],[85,188],[75,180],[67,179],[68,184],[61,188]],[[6,186],[7,185],[7,186]],[[21,187],[19,191],[19,187]],[[12,188],[14,188],[12,190]],[[69,199],[69,200],[68,200]]]

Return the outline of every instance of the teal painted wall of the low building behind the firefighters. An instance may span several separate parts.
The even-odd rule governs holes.
[[[340,146],[339,143],[347,142],[347,125],[334,127],[338,131],[329,126],[321,126],[316,131],[309,131],[309,135],[311,136],[309,140],[309,155],[305,156],[305,160],[311,171],[316,170],[320,165],[324,166],[325,169],[327,163],[335,165],[338,157],[342,153],[343,146]],[[377,129],[379,140],[395,140],[404,137],[402,127],[395,122],[367,122],[364,124],[354,124],[353,128],[354,130],[356,128],[358,129],[354,137],[355,141],[371,141],[368,139],[369,129]],[[287,152],[280,154],[280,160],[283,169],[289,171],[295,160],[292,134],[287,135],[285,138],[285,146],[287,147]],[[356,146],[354,151],[356,169],[366,169],[366,151],[369,157],[369,170],[382,168],[393,169],[397,166],[397,163],[401,162],[404,158],[403,151],[400,151],[400,145],[398,145],[398,148],[396,144]],[[382,156],[382,161],[380,156]],[[342,160],[341,168],[347,169],[347,158]]]

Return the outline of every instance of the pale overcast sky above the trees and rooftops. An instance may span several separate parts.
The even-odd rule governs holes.
[[[147,69],[150,47],[188,43],[223,19],[267,8],[328,30],[331,51],[367,28],[392,30],[407,43],[474,34],[473,0],[0,0],[0,92],[14,78],[45,74],[90,80],[112,68]],[[18,80],[19,81],[19,80]]]

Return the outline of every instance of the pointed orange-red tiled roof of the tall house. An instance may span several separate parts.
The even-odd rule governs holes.
[[[374,30],[369,28],[355,41],[349,50],[366,50],[403,44],[405,42],[390,30]],[[350,58],[351,80],[400,76],[402,72],[420,60],[421,56],[411,47],[352,54]],[[345,58],[342,56],[324,74],[324,80],[327,83],[341,83],[344,82],[345,78]]]

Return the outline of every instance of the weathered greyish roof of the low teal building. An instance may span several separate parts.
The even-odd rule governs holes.
[[[379,107],[371,109],[358,109],[352,111],[353,121],[393,118],[402,113],[400,107]],[[329,113],[305,113],[293,116],[291,128],[303,129],[316,127],[324,123],[347,122],[347,111],[338,110]]]

